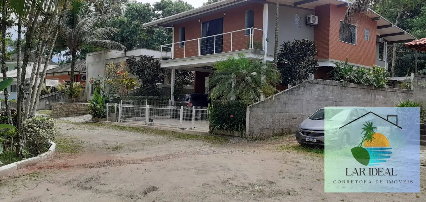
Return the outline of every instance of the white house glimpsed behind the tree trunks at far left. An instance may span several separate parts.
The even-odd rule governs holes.
[[[22,60],[23,60],[23,55],[24,53],[21,52],[21,65],[22,65]],[[6,66],[8,66],[8,71],[6,72],[7,77],[13,77],[14,81],[12,82],[12,84],[8,87],[9,90],[9,99],[17,99],[17,53],[12,54],[10,56],[10,60],[6,61]],[[43,58],[44,59],[44,58]],[[29,63],[26,67],[26,78],[31,78],[31,74],[32,74],[32,67],[34,66],[34,61],[35,61],[35,54],[31,54],[29,56]],[[47,69],[53,69],[55,67],[58,67],[59,65],[53,61],[49,61],[49,64],[47,66]],[[41,62],[41,68],[44,67],[44,61],[42,60]],[[0,76],[0,81],[3,81],[3,74]],[[52,81],[47,81],[46,82],[46,86],[50,87],[50,86],[58,86],[58,82],[56,80],[52,80]],[[0,98],[4,99],[4,94],[0,94]]]

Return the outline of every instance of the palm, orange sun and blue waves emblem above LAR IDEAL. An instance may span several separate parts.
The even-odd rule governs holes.
[[[389,141],[382,133],[376,133],[377,127],[373,122],[366,121],[363,124],[363,138],[357,147],[351,149],[352,156],[365,166],[380,165],[390,158],[392,153],[389,147]]]

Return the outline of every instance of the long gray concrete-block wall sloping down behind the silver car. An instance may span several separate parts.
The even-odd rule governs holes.
[[[413,75],[413,82],[426,81],[426,75]],[[264,101],[247,107],[246,138],[262,139],[274,133],[293,132],[305,118],[327,106],[394,107],[400,101],[426,101],[426,87],[413,90],[348,84],[326,80],[306,81]]]

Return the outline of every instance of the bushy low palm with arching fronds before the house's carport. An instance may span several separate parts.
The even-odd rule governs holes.
[[[219,61],[213,69],[210,100],[239,100],[253,104],[262,95],[273,95],[276,92],[275,85],[280,81],[274,63],[264,61],[263,58],[248,58],[244,54]],[[265,81],[262,81],[262,73]]]

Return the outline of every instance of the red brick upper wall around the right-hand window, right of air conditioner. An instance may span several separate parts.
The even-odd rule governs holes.
[[[357,26],[356,45],[339,40],[340,20],[346,12],[345,7],[337,8],[337,5],[327,4],[317,6],[315,15],[318,16],[318,25],[314,30],[314,41],[317,43],[317,59],[334,59],[373,66],[376,63],[376,21],[370,17],[361,15]],[[364,39],[365,29],[370,29],[370,40]]]

